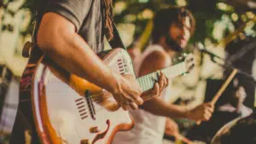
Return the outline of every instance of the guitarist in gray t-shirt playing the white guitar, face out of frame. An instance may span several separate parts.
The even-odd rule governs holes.
[[[113,34],[112,0],[47,0],[38,1],[38,27],[29,65],[20,83],[20,103],[10,144],[40,143],[32,118],[30,82],[33,63],[42,54],[59,66],[89,80],[113,94],[124,110],[143,104],[142,89],[131,75],[121,76],[105,66],[96,54],[103,50],[103,37],[116,47],[123,47]],[[38,47],[37,47],[38,46]],[[158,96],[166,87],[161,74],[154,89],[147,94]]]

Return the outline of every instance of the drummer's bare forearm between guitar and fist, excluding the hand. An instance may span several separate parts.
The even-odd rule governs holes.
[[[154,115],[169,118],[187,118],[189,112],[185,107],[166,103],[166,101],[163,101],[160,97],[156,97],[150,101],[144,101],[141,108]]]

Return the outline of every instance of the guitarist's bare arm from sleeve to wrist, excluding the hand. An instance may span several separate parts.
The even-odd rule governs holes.
[[[38,31],[38,46],[59,66],[93,84],[113,92],[118,87],[119,75],[105,66],[90,46],[73,28],[62,31],[49,27],[52,21],[41,24]],[[53,29],[53,31],[45,32]],[[54,32],[57,31],[57,32]],[[58,34],[61,33],[61,34]],[[111,80],[110,80],[111,79]]]

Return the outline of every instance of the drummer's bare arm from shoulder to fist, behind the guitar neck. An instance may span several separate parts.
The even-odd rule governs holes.
[[[171,64],[172,61],[168,55],[161,52],[154,52],[148,55],[148,57],[143,61],[139,75],[143,76],[150,72],[163,69],[166,66],[171,66]],[[192,110],[188,110],[185,107],[167,103],[160,97],[155,97],[154,99],[145,101],[141,108],[158,116],[169,118],[189,118],[192,120],[207,120],[212,116],[213,112],[213,106],[210,103],[205,103]]]

